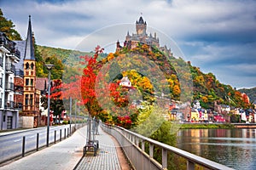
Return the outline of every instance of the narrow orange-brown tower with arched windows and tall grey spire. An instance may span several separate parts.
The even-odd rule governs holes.
[[[36,59],[34,55],[34,44],[32,37],[32,26],[31,26],[31,16],[29,16],[28,29],[26,36],[26,48],[24,54],[24,97],[23,97],[23,116],[38,116],[37,107],[36,107]]]

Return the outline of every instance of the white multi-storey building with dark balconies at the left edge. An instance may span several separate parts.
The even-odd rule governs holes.
[[[20,61],[16,43],[0,32],[0,122],[1,130],[19,126],[18,104],[15,102],[15,63]]]

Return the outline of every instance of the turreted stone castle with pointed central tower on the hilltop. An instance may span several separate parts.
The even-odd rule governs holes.
[[[130,35],[129,31],[127,31],[124,47],[129,49],[136,48],[138,43],[148,44],[150,47],[158,48],[160,51],[172,56],[170,48],[168,49],[166,46],[160,47],[159,37],[156,37],[156,32],[154,32],[154,36],[152,36],[151,32],[148,36],[147,23],[143,20],[142,16],[136,21],[136,33]],[[116,43],[116,51],[119,51],[121,48],[123,47],[118,41]]]

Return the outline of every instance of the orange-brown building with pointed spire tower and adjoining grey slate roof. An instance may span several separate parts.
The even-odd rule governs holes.
[[[16,41],[16,43],[22,58],[15,66],[17,70],[23,71],[22,79],[19,79],[19,77],[16,77],[15,79],[15,86],[23,89],[23,94],[16,96],[17,103],[22,102],[20,126],[38,127],[40,124],[39,98],[41,92],[36,88],[36,59],[34,55],[34,42],[30,16],[26,40]]]

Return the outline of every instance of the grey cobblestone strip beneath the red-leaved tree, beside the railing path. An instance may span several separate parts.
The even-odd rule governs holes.
[[[96,135],[96,139],[99,140],[99,150],[97,151],[97,155],[93,156],[93,153],[88,152],[84,157],[81,158],[75,170],[121,169],[116,146],[113,143],[113,139],[111,139],[111,137],[107,133],[104,133],[101,128],[99,128],[99,133],[99,135]]]

